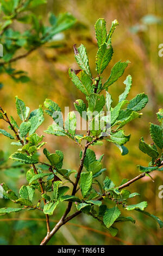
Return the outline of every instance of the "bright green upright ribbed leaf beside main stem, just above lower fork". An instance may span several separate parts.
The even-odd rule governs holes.
[[[92,188],[92,172],[81,173],[80,175],[80,189],[85,198]]]

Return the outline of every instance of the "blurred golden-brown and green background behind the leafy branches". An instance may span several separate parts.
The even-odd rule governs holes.
[[[1,1],[0,1],[1,2]],[[128,99],[138,93],[146,92],[149,102],[143,109],[141,119],[136,119],[125,128],[126,134],[131,138],[127,143],[129,154],[121,156],[120,151],[111,143],[93,147],[97,158],[104,155],[103,166],[107,168],[105,174],[120,184],[123,178],[134,178],[139,174],[137,164],[146,166],[148,156],[141,154],[139,150],[139,138],[151,143],[149,136],[149,122],[157,123],[156,112],[162,107],[162,78],[163,57],[159,57],[159,44],[163,43],[163,2],[161,0],[48,0],[47,4],[34,9],[36,15],[42,16],[42,21],[48,21],[49,11],[55,15],[70,12],[77,19],[76,24],[68,31],[60,34],[57,40],[57,48],[43,47],[34,51],[27,58],[18,60],[14,65],[23,68],[29,74],[28,83],[15,83],[7,75],[1,75],[4,87],[0,90],[1,106],[9,115],[15,114],[15,96],[26,102],[31,110],[43,105],[46,98],[59,104],[64,111],[65,106],[74,110],[73,102],[83,99],[83,95],[74,87],[68,76],[68,69],[77,68],[73,56],[73,44],[84,44],[89,56],[91,71],[95,72],[95,57],[97,52],[94,25],[99,17],[106,20],[106,26],[110,29],[111,22],[118,20],[120,26],[116,28],[112,36],[114,55],[109,67],[104,71],[103,78],[110,75],[111,67],[119,60],[130,60],[130,64],[124,75],[109,87],[114,105],[118,95],[124,90],[123,81],[130,74],[133,77],[133,87]],[[17,26],[12,25],[12,26]],[[26,27],[19,24],[16,29],[24,31]],[[52,123],[50,117],[45,115],[45,122],[39,128],[39,135],[44,134],[48,125]],[[5,129],[1,121],[1,129]],[[64,167],[77,169],[79,164],[79,151],[77,145],[64,137],[46,135],[47,148],[53,152],[60,149],[64,153]],[[0,149],[6,152],[6,157],[14,153],[17,148],[10,145],[8,138],[0,136]],[[11,161],[8,161],[8,165]],[[148,202],[148,211],[161,219],[162,202],[159,186],[163,185],[163,177],[160,172],[152,174],[155,182],[148,177],[135,182],[130,186],[130,192],[139,192],[141,198],[133,198],[131,204],[142,200]],[[101,176],[100,176],[101,177]],[[102,179],[103,177],[99,178]],[[16,192],[24,184],[26,175],[20,169],[0,169],[0,181],[6,182]],[[0,182],[0,183],[1,183]],[[8,201],[1,199],[0,206],[9,206]],[[59,220],[65,205],[55,211],[51,217],[51,225]],[[130,213],[129,213],[130,214]],[[80,215],[70,223],[67,223],[49,241],[49,245],[162,245],[162,230],[158,225],[145,215],[135,212],[130,216],[136,219],[136,224],[120,223],[116,237],[111,235],[99,223],[87,215]],[[0,218],[0,244],[2,245],[37,245],[45,236],[46,222],[38,211],[26,211],[18,214],[4,215]]]

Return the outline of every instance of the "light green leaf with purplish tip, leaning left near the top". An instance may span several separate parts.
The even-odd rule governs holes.
[[[86,48],[84,45],[80,45],[76,48],[76,45],[73,46],[74,48],[74,57],[82,70],[86,72],[87,75],[91,75],[90,68],[89,68],[89,60],[86,54]]]

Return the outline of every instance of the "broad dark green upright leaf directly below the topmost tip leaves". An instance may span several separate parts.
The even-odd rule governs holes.
[[[104,42],[98,49],[96,55],[96,68],[99,75],[102,74],[106,66],[108,66],[112,57],[112,46]]]

